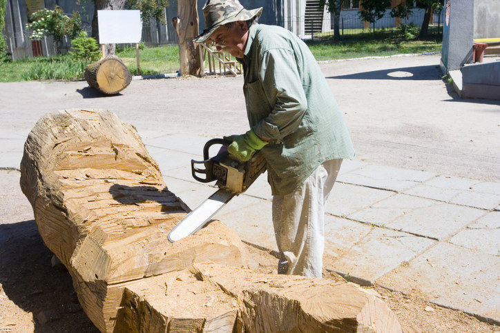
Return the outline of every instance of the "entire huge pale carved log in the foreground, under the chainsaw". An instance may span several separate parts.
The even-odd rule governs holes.
[[[102,332],[401,332],[357,285],[245,268],[242,242],[220,221],[169,243],[189,208],[135,129],[106,110],[42,117],[21,189]]]

